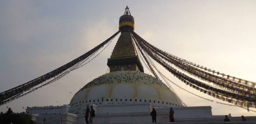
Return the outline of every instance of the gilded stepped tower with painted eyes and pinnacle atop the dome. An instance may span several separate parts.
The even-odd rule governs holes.
[[[138,57],[137,50],[132,41],[129,30],[134,30],[134,18],[126,6],[125,13],[119,18],[120,37],[108,59],[110,72],[118,70],[136,70],[144,72]]]

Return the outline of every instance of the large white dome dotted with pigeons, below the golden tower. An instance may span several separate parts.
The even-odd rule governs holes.
[[[140,71],[113,71],[86,84],[70,101],[104,103],[150,102],[153,106],[183,106],[181,100],[160,80]]]

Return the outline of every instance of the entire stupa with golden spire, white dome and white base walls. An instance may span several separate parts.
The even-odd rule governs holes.
[[[157,122],[169,122],[169,109],[175,111],[176,122],[222,122],[224,116],[212,116],[211,106],[187,107],[166,84],[145,74],[136,46],[129,34],[134,18],[126,7],[119,18],[121,35],[108,59],[110,73],[86,83],[68,105],[28,107],[39,124],[85,124],[86,106],[93,106],[93,123],[151,122],[152,108]],[[233,118],[240,119],[240,118]],[[253,118],[255,119],[255,117]]]

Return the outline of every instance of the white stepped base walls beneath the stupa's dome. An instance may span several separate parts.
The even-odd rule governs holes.
[[[101,104],[93,105],[96,116],[93,123],[150,123],[152,122],[150,112],[152,105],[150,103],[137,104]],[[81,106],[85,107],[85,106]],[[85,124],[84,114],[69,113],[69,105],[55,107],[36,107],[28,108],[32,113],[33,119],[38,124]],[[211,106],[197,107],[173,107],[175,119],[195,119],[195,118],[213,118]],[[81,108],[84,109],[84,108]],[[170,107],[155,107],[157,111],[157,122],[169,122]],[[47,113],[47,115],[45,113]],[[59,114],[59,113],[60,114]],[[58,113],[58,114],[55,114]]]

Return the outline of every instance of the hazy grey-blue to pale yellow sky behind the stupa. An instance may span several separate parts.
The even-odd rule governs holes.
[[[135,19],[134,31],[156,47],[225,74],[256,81],[256,1],[2,0],[0,92],[46,74],[109,38],[118,30],[126,5]],[[6,111],[6,106],[21,112],[26,106],[69,104],[80,87],[105,74],[116,41],[93,62],[0,106],[0,111]],[[158,67],[180,86],[214,101],[173,86],[188,106],[212,106],[213,115],[256,116],[239,107],[217,104],[223,101],[186,86]],[[144,70],[151,74],[146,67]]]

